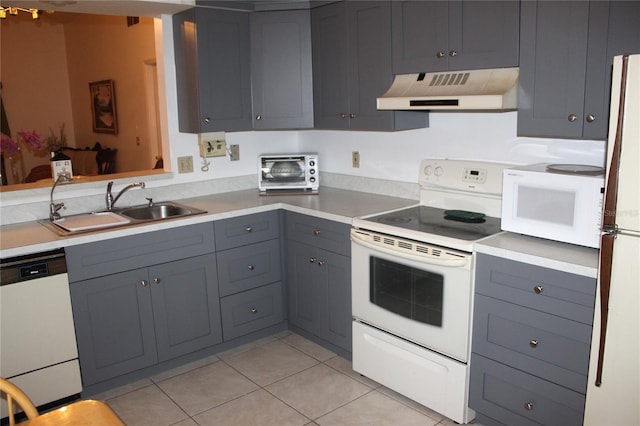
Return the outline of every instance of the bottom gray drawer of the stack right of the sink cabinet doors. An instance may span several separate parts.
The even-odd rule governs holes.
[[[225,341],[278,324],[284,320],[282,283],[223,297],[220,309]]]

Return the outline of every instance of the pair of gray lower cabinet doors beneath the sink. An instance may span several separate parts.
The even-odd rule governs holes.
[[[70,288],[84,386],[222,341],[213,254]]]

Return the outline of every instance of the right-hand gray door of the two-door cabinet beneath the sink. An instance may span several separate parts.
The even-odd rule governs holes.
[[[222,342],[213,254],[149,268],[160,362]]]

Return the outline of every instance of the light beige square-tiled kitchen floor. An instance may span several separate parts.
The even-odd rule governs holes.
[[[99,395],[129,426],[455,423],[284,332]]]

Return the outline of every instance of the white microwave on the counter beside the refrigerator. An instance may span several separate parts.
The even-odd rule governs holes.
[[[502,229],[598,248],[603,197],[600,167],[534,164],[505,169]]]

